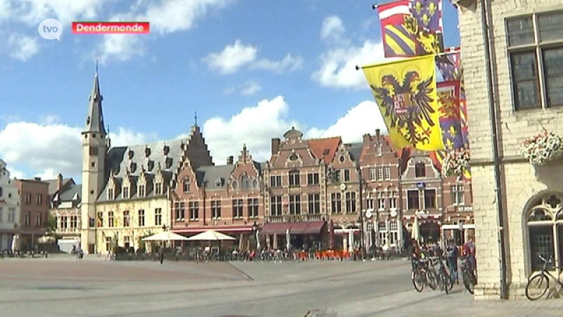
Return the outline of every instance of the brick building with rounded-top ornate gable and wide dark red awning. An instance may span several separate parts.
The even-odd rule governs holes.
[[[283,141],[272,139],[272,155],[264,169],[267,183],[262,234],[278,246],[285,245],[281,240],[285,241],[288,230],[296,248],[327,242],[327,161],[332,161],[338,141],[316,144],[321,155],[318,157],[302,137],[301,131],[292,127],[284,134]]]

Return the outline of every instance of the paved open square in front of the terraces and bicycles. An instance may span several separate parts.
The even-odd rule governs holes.
[[[408,261],[284,263],[0,260],[2,317],[561,316],[563,302],[417,293]]]

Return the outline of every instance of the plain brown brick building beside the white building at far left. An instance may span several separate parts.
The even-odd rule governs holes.
[[[39,237],[46,234],[49,213],[49,183],[41,178],[16,179],[20,194],[20,249],[33,250]]]

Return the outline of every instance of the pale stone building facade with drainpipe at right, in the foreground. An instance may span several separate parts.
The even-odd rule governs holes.
[[[469,122],[479,275],[475,297],[497,298],[503,280],[508,297],[522,296],[526,279],[540,265],[539,254],[553,256],[556,266],[563,256],[563,165],[534,167],[519,155],[522,140],[544,129],[562,134],[563,5],[560,0],[465,0],[458,7],[468,116],[478,118]],[[491,38],[489,56],[485,35]],[[486,76],[488,60],[492,76]]]

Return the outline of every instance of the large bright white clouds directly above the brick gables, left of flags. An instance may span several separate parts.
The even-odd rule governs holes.
[[[271,138],[282,137],[292,126],[302,129],[307,138],[342,136],[345,142],[359,142],[365,133],[386,130],[376,103],[371,101],[359,103],[329,127],[307,129],[289,118],[289,105],[283,96],[277,96],[244,108],[231,118],[211,118],[203,125],[203,133],[213,161],[224,164],[227,156],[238,155],[243,144],[254,160],[267,160]]]

